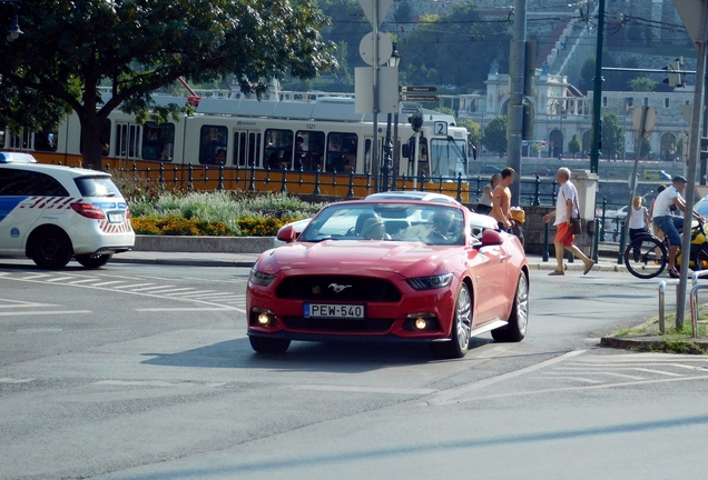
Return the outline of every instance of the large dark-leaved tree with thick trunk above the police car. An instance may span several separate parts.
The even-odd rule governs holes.
[[[336,66],[314,0],[24,0],[19,21],[21,38],[0,42],[0,118],[12,119],[28,92],[45,110],[56,107],[55,121],[73,110],[85,163],[95,167],[108,114],[118,106],[156,108],[150,93],[179,77],[208,82],[233,74],[242,90],[262,94],[271,79],[312,78]],[[156,113],[168,111],[178,108]]]

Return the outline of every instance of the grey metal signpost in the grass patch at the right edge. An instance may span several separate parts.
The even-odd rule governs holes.
[[[708,40],[708,0],[702,0],[700,6],[700,23],[698,34],[694,38],[698,49],[698,67],[696,68],[696,88],[694,90],[694,110],[691,112],[690,133],[688,136],[688,171],[686,179],[685,200],[686,211],[684,212],[684,238],[681,241],[681,276],[677,287],[676,299],[676,328],[684,327],[684,316],[686,314],[686,291],[688,287],[688,259],[691,248],[691,223],[694,220],[694,197],[696,190],[696,164],[700,158],[700,120],[702,117],[704,87],[706,77],[706,41]],[[691,31],[687,26],[687,30]]]

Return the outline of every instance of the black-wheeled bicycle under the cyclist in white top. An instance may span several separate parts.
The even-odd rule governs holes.
[[[627,270],[637,278],[655,278],[666,268],[669,262],[669,241],[643,233],[630,241],[625,250],[625,266]],[[681,264],[681,250],[676,254],[676,267]],[[708,269],[708,233],[704,230],[704,223],[698,222],[691,227],[691,250],[689,256],[689,268],[694,271]]]

